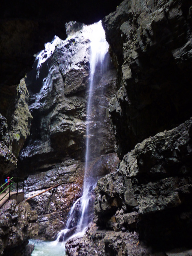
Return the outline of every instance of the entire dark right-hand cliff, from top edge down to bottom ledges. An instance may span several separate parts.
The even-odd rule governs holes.
[[[98,181],[94,224],[67,252],[191,255],[191,1],[124,1],[103,26],[122,161]]]

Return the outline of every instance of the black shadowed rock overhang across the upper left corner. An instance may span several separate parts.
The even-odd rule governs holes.
[[[32,69],[34,54],[54,35],[66,38],[65,23],[94,23],[116,9],[122,0],[1,1],[0,86],[18,84]]]

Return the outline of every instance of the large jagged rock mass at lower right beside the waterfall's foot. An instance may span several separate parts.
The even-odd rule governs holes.
[[[78,255],[90,253],[83,245],[94,242],[99,255],[154,255],[146,244],[160,252],[191,248],[191,156],[192,120],[137,144],[116,172],[98,181],[94,221],[104,231],[93,227],[76,245]]]

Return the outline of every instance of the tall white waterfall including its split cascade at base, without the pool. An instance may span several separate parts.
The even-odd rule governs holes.
[[[68,221],[64,230],[61,230],[58,234],[57,241],[66,242],[73,237],[81,237],[85,234],[90,222],[93,218],[93,202],[94,202],[94,188],[96,187],[98,177],[94,176],[90,171],[90,161],[92,156],[94,144],[94,138],[92,134],[91,126],[97,126],[98,124],[92,123],[93,108],[98,111],[100,116],[100,108],[102,108],[102,95],[100,95],[101,101],[98,106],[94,106],[94,87],[97,84],[98,77],[102,77],[104,71],[105,56],[108,52],[108,43],[105,39],[104,29],[102,28],[101,21],[91,25],[92,33],[90,34],[90,75],[89,75],[89,96],[87,102],[87,118],[86,118],[86,155],[85,155],[85,172],[84,172],[84,188],[82,197],[79,198],[71,208]],[[98,120],[99,123],[101,120]],[[92,143],[91,143],[92,140]],[[99,145],[97,145],[99,147]],[[95,145],[94,145],[95,147]],[[99,151],[99,148],[98,148]],[[76,206],[80,204],[80,214],[78,216],[77,225],[74,225],[74,215]]]

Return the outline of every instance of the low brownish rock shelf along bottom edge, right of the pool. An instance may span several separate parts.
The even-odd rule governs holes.
[[[101,230],[95,225],[91,226],[83,238],[72,238],[67,242],[66,252],[73,256],[153,255],[147,246],[140,244],[136,232]],[[162,254],[155,255],[161,256]]]

